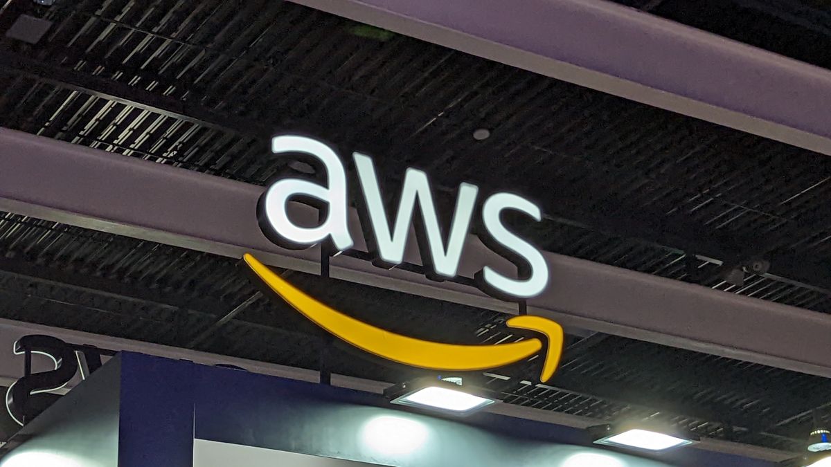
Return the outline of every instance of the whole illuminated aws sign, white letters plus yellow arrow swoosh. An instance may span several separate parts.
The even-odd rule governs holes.
[[[421,170],[406,170],[397,211],[391,216],[370,156],[352,153],[356,173],[356,180],[352,181],[356,181],[358,189],[351,191],[343,161],[330,145],[307,136],[278,135],[271,142],[271,150],[276,155],[307,162],[316,169],[307,172],[317,175],[317,178],[278,179],[268,186],[259,200],[258,220],[263,233],[284,248],[309,248],[320,243],[331,244],[337,252],[352,248],[355,243],[347,225],[348,194],[352,192],[356,193],[367,247],[374,258],[373,263],[379,267],[394,268],[403,262],[407,236],[411,227],[415,227],[426,275],[435,280],[455,278],[465,240],[475,228],[483,243],[509,259],[518,270],[515,277],[508,277],[485,266],[475,274],[475,283],[484,292],[503,299],[524,300],[543,292],[548,285],[548,265],[542,253],[507,229],[502,220],[506,211],[516,211],[537,221],[542,219],[538,206],[528,199],[516,194],[495,193],[480,200],[477,186],[460,184],[455,209],[450,216],[450,228],[445,234],[436,212],[430,181]],[[319,209],[317,223],[301,225],[297,219],[291,219],[289,201],[300,201]],[[539,332],[548,342],[530,338],[497,345],[464,346],[401,336],[318,302],[249,254],[245,255],[244,261],[271,291],[317,326],[352,346],[387,360],[440,371],[478,371],[520,361],[544,349],[540,380],[548,381],[563,349],[562,327],[543,317],[527,315],[511,317],[506,324]]]

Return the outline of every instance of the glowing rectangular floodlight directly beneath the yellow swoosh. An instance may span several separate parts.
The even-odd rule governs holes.
[[[407,381],[387,388],[384,396],[399,406],[438,410],[451,415],[470,415],[498,401],[487,391],[463,386],[458,378],[450,380],[456,382],[440,378]]]

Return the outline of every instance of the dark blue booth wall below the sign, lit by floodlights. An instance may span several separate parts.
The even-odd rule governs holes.
[[[304,381],[126,352],[117,360],[121,467],[191,467],[194,449],[199,462],[234,445],[273,452],[273,465],[283,465],[276,451],[396,467],[771,465],[691,447],[646,459],[597,448],[583,430],[560,425],[488,413],[444,418]]]

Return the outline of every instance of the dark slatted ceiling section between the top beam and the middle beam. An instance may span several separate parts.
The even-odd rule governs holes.
[[[47,16],[60,27],[35,47],[38,60],[4,73],[3,123],[253,183],[282,167],[264,156],[263,135],[252,130],[297,126],[366,146],[391,175],[429,159],[448,189],[461,179],[490,189],[523,180],[548,213],[613,236],[646,237],[710,258],[799,254],[817,268],[827,263],[821,201],[831,171],[823,156],[407,37],[356,37],[352,23],[288,3],[269,5],[273,16],[257,15],[272,21],[255,22],[261,30],[251,32],[245,47],[244,39],[229,46],[222,32],[247,23],[253,11],[229,12],[219,3],[216,12],[166,7],[83,2],[50,9]],[[182,15],[192,24],[168,31]],[[212,21],[226,27],[201,33]],[[201,25],[200,33],[189,35],[187,25]],[[292,34],[275,34],[281,30]],[[31,68],[37,64],[116,81],[135,97],[163,97],[184,114],[230,118],[221,120],[224,126],[183,120],[95,89],[43,83]],[[252,87],[252,76],[262,89]],[[170,84],[181,82],[186,89]],[[262,90],[270,94],[256,94]],[[318,95],[324,97],[308,97]],[[493,128],[495,137],[475,143],[470,131],[479,125]],[[587,194],[585,186],[594,189]],[[829,284],[809,279],[820,288]]]

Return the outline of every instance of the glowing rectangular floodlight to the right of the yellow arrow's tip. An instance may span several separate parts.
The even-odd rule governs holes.
[[[656,429],[652,425],[600,425],[589,430],[596,445],[655,453],[675,450],[698,442],[694,435],[676,430]]]

